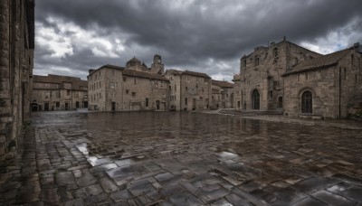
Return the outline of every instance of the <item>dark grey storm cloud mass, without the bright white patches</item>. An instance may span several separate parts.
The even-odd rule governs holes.
[[[362,32],[360,0],[39,0],[36,3],[36,21],[55,31],[59,31],[59,25],[49,21],[49,17],[75,23],[105,38],[123,33],[127,35],[123,44],[128,57],[136,55],[149,61],[154,53],[160,53],[167,68],[196,68],[210,74],[219,71],[205,68],[212,66],[207,61],[227,61],[232,68],[225,67],[223,72],[237,72],[238,58],[243,53],[268,42],[281,41],[284,35],[292,42],[318,43],[320,38],[353,20],[354,30],[350,33]],[[355,39],[348,41],[351,44],[362,40],[355,35]],[[127,51],[135,45],[138,49]],[[141,52],[142,47],[149,52]],[[37,49],[38,57],[46,50]],[[74,49],[57,63],[80,68],[115,62],[115,58],[88,60],[91,56],[90,50]],[[40,57],[37,62],[43,61],[46,60]]]

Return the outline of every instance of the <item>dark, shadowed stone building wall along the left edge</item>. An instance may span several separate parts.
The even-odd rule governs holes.
[[[29,122],[34,50],[34,1],[0,2],[0,162],[21,144]]]

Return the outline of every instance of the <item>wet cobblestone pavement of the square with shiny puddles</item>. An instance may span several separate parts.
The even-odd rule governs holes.
[[[201,113],[33,113],[0,204],[362,205],[362,132]]]

